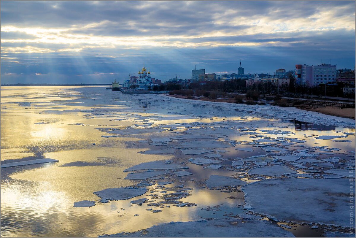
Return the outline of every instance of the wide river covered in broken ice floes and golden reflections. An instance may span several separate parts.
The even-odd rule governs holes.
[[[1,87],[1,237],[352,237],[353,206],[355,120]]]

